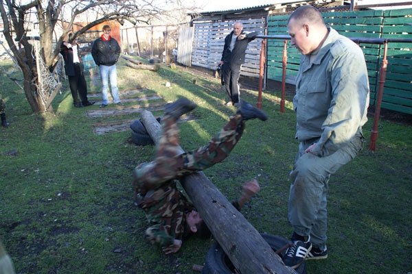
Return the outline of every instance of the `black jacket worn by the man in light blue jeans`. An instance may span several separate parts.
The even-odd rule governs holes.
[[[99,37],[93,42],[91,47],[91,56],[95,64],[100,66],[113,66],[119,60],[120,46],[117,40],[111,37],[108,41],[104,41]]]

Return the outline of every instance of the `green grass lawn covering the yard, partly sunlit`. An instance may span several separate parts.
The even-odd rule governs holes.
[[[198,105],[191,113],[194,121],[179,124],[185,150],[205,145],[235,112],[224,105],[219,79],[181,66],[135,70],[120,59],[124,108],[179,97]],[[16,273],[198,273],[192,265],[204,263],[213,239],[190,238],[179,253],[165,256],[143,238],[148,223],[132,203],[132,171],[152,160],[154,147],[130,144],[130,129],[93,132],[99,123],[138,119],[137,112],[109,105],[118,113],[88,116],[100,110],[99,102],[73,108],[65,80],[52,103],[54,114],[32,114],[23,91],[3,74],[0,81],[10,123],[0,127],[0,239]],[[100,85],[87,81],[89,100],[100,101]],[[141,90],[141,98],[156,94],[160,99],[133,101],[137,95],[125,91],[134,89]],[[241,92],[242,99],[257,103],[258,86],[242,86]],[[229,158],[204,172],[229,201],[241,194],[243,182],[257,179],[261,191],[242,213],[259,232],[284,238],[291,235],[288,174],[298,145],[291,96],[281,113],[280,90],[265,90],[262,109],[268,121],[248,121]],[[307,262],[308,273],[412,271],[412,127],[380,121],[372,152],[372,123],[371,116],[364,127],[365,149],[330,179],[329,258]],[[12,150],[16,155],[7,154]]]

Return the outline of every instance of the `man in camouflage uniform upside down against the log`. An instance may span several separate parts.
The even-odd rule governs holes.
[[[182,240],[190,234],[202,235],[208,229],[193,204],[176,188],[174,179],[189,175],[221,162],[242,136],[245,121],[267,116],[250,103],[241,101],[240,108],[230,117],[208,145],[179,153],[179,117],[196,107],[187,99],[166,105],[162,119],[163,133],[155,153],[155,160],[139,164],[133,171],[135,203],[145,212],[150,223],[145,238],[160,245],[166,254],[179,251]],[[240,209],[244,202],[259,190],[255,180],[243,186],[243,195],[233,206]],[[206,233],[209,235],[210,232]]]

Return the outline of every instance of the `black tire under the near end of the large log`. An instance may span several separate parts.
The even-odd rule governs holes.
[[[271,235],[271,234],[261,234],[264,240],[268,242],[268,244],[272,247],[274,251],[281,249],[284,247],[288,240],[285,238],[281,238],[279,236]],[[297,273],[307,274],[306,271],[306,264],[303,262],[297,269],[295,269]],[[235,273],[235,269],[233,264],[230,262],[229,258],[227,258],[225,252],[223,251],[222,247],[216,242],[209,251],[207,251],[206,259],[205,259],[205,266],[201,271],[201,274],[233,274]]]

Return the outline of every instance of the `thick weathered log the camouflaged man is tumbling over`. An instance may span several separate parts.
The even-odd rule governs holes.
[[[141,112],[141,123],[155,144],[161,125],[147,110]],[[183,153],[183,149],[179,149]],[[187,175],[181,184],[227,257],[240,273],[296,273],[271,249],[244,216],[201,171]]]

